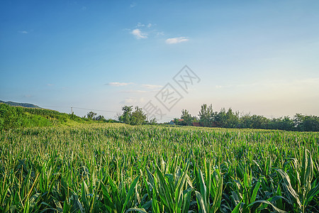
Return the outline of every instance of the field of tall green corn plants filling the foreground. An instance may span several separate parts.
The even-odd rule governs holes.
[[[319,212],[319,133],[79,124],[0,131],[0,212]]]

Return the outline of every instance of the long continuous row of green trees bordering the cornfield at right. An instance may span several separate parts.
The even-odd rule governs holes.
[[[279,129],[286,131],[319,131],[319,116],[295,114],[292,118],[281,116],[279,118],[268,119],[265,116],[243,114],[233,109],[213,111],[212,104],[201,105],[198,117],[191,116],[189,111],[181,111],[182,121],[174,119],[175,124],[192,126],[194,122],[199,122],[201,126],[223,127],[223,128],[249,128],[249,129]]]

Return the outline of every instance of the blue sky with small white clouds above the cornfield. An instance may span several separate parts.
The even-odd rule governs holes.
[[[150,100],[319,115],[319,1],[1,1],[0,99],[114,118]],[[188,65],[186,94],[172,80]],[[155,95],[183,96],[165,111]],[[109,111],[109,112],[107,112]]]

